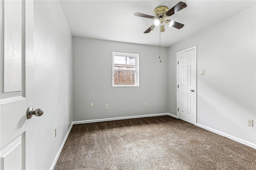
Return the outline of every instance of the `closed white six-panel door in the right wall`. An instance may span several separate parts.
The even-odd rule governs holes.
[[[177,116],[196,125],[196,46],[177,53]]]

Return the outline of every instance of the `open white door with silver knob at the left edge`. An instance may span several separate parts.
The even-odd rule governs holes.
[[[0,14],[0,169],[33,169],[33,1],[1,0]]]

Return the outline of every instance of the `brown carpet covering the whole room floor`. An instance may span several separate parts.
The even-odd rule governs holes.
[[[169,116],[74,125],[55,170],[256,170],[256,149]]]

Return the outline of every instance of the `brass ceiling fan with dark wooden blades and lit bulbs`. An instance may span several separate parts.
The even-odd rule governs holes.
[[[184,26],[184,24],[180,24],[178,22],[175,22],[173,20],[165,20],[165,18],[168,18],[169,16],[172,16],[173,14],[179,12],[183,8],[186,8],[186,3],[179,2],[174,7],[172,7],[170,10],[166,6],[159,6],[154,10],[154,16],[150,16],[147,14],[141,14],[141,13],[135,13],[134,16],[140,16],[144,18],[150,18],[155,19],[154,24],[151,25],[144,33],[149,33],[151,30],[154,30],[156,26],[160,24],[160,32],[164,32],[164,24],[166,23],[168,26],[172,26],[174,28],[180,29]]]

